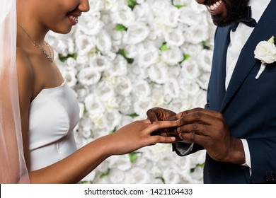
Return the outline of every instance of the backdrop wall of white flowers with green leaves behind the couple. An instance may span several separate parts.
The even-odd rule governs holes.
[[[195,0],[90,0],[68,35],[49,33],[59,68],[81,108],[79,147],[151,107],[204,107],[214,25]],[[93,151],[91,151],[93,152]],[[180,157],[171,144],[104,161],[83,182],[202,183],[205,151]]]

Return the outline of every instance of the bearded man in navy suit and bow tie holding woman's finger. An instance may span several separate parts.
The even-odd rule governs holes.
[[[196,1],[217,25],[212,72],[205,109],[177,114],[183,141],[173,151],[206,149],[205,183],[276,182],[276,62],[256,79],[254,57],[260,41],[276,36],[276,0]],[[176,113],[156,107],[147,115],[153,122]]]

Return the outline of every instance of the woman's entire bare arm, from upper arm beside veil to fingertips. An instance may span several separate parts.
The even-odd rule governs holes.
[[[25,160],[29,164],[28,152],[28,116],[30,101],[33,95],[33,71],[20,52],[17,53],[18,89],[21,107],[21,125]],[[155,122],[142,120],[127,124],[113,134],[100,137],[83,146],[62,161],[50,166],[29,172],[31,183],[76,183],[90,173],[106,158],[112,155],[130,153],[143,146],[157,142],[171,143],[174,137],[151,136],[151,132],[161,128],[176,127],[175,121]],[[41,156],[43,158],[43,156]]]

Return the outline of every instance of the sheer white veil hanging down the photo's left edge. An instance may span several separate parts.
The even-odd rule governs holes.
[[[29,183],[16,72],[16,0],[0,6],[0,183]]]

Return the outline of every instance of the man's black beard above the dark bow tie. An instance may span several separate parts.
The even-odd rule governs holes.
[[[214,25],[223,27],[238,21],[239,16],[243,15],[243,10],[248,6],[249,0],[222,0],[225,3],[227,16],[212,15]]]

